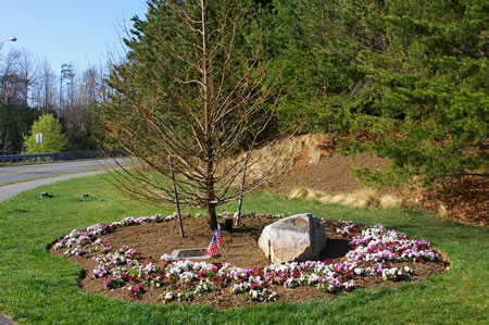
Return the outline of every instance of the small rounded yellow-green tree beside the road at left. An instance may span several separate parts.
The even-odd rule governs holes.
[[[61,125],[52,114],[43,114],[38,121],[34,122],[30,134],[24,136],[24,145],[27,153],[37,153],[38,143],[36,134],[42,134],[40,152],[58,152],[63,150],[66,143],[66,137],[61,133]]]

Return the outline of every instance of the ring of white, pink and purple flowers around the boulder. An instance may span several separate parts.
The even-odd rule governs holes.
[[[226,216],[227,213],[224,213]],[[189,216],[188,214],[186,216]],[[249,213],[244,217],[283,217]],[[160,301],[192,301],[196,296],[228,290],[244,295],[249,301],[274,301],[278,286],[285,288],[316,287],[325,292],[352,290],[355,279],[378,277],[384,280],[408,279],[413,274],[411,263],[440,259],[429,242],[410,239],[381,225],[367,228],[344,221],[323,221],[324,225],[349,240],[350,251],[341,260],[290,262],[265,267],[236,267],[229,263],[174,261],[163,254],[160,261],[142,262],[141,254],[128,246],[113,247],[99,238],[117,228],[146,223],[161,223],[175,216],[127,217],[110,225],[96,224],[86,230],[73,230],[58,240],[53,249],[63,250],[66,258],[91,255],[96,266],[92,278],[103,278],[109,290],[122,288],[131,298],[141,298],[151,289],[163,288]],[[401,262],[402,266],[399,264]]]

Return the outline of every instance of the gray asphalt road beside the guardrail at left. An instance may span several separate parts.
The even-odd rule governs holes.
[[[112,159],[77,160],[32,165],[0,166],[0,186],[3,183],[52,177],[67,173],[80,173],[115,165]]]

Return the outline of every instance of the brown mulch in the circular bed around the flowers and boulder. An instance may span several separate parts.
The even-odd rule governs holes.
[[[223,232],[222,241],[223,247],[220,249],[220,255],[206,260],[208,262],[221,262],[230,263],[240,267],[253,267],[253,266],[266,266],[269,261],[265,258],[263,252],[258,247],[258,238],[264,226],[274,222],[269,218],[243,218],[239,228],[235,228],[233,233]],[[160,266],[163,266],[163,262],[160,261],[160,257],[164,253],[171,254],[175,249],[186,248],[206,248],[209,246],[212,233],[209,230],[206,220],[202,217],[187,217],[183,220],[185,238],[181,239],[178,232],[177,221],[150,223],[137,226],[126,226],[117,228],[114,233],[100,236],[104,240],[108,240],[114,248],[122,247],[123,245],[129,246],[136,251],[141,253],[142,262],[148,262],[152,259]],[[341,259],[349,250],[348,241],[338,237],[336,234],[331,234],[329,228],[326,228],[327,233],[327,246],[321,257],[321,260],[325,259]],[[62,251],[50,252],[54,255],[62,255]],[[99,293],[103,296],[110,296],[126,301],[134,301],[129,298],[127,291],[122,289],[108,290],[104,288],[104,278],[92,279],[91,271],[96,266],[96,262],[92,257],[72,257],[71,261],[79,264],[83,270],[83,278],[79,284],[83,289]],[[397,264],[399,266],[406,263]],[[411,277],[411,282],[418,282],[427,278],[432,274],[440,274],[449,267],[448,262],[427,262],[427,263],[409,263],[410,267],[414,270],[414,274]],[[355,284],[362,288],[373,288],[378,286],[398,286],[403,282],[383,280],[377,277],[355,277]],[[298,287],[294,289],[287,289],[281,286],[274,286],[272,288],[278,293],[278,301],[287,302],[300,302],[310,299],[334,299],[340,295],[326,293],[315,287]],[[141,299],[138,301],[162,303],[160,296],[164,293],[163,288],[148,289]],[[192,302],[175,302],[181,304],[199,303],[210,304],[215,308],[226,309],[230,307],[246,307],[255,304],[258,302],[250,302],[246,300],[244,295],[233,295],[230,287],[220,291],[210,292],[203,296],[196,296]]]

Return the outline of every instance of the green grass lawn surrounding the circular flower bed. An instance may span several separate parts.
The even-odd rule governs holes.
[[[41,191],[52,198],[39,198]],[[88,199],[82,193],[88,192]],[[226,208],[236,210],[236,203]],[[0,203],[0,311],[18,323],[489,323],[489,230],[403,209],[324,207],[264,192],[246,197],[243,211],[311,212],[318,217],[384,224],[427,239],[453,263],[442,275],[396,288],[358,289],[330,301],[256,304],[247,309],[127,303],[85,292],[78,266],[48,253],[72,229],[126,216],[170,214],[174,208],[146,207],[122,198],[102,176],[55,183]],[[184,209],[196,213],[197,210]]]

